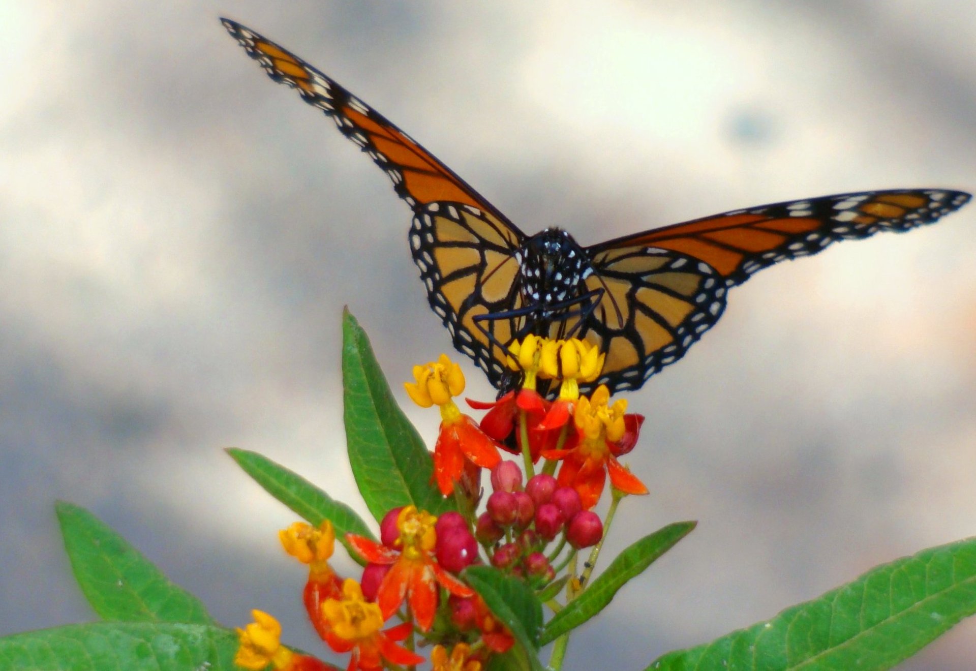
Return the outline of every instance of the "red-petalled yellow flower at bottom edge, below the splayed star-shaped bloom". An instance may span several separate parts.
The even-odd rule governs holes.
[[[385,617],[380,607],[363,598],[362,588],[352,578],[343,583],[341,599],[328,599],[322,604],[322,616],[329,625],[325,642],[337,652],[352,651],[346,671],[374,671],[382,669],[384,659],[393,664],[420,664],[424,657],[396,645],[410,635],[410,622],[386,631]]]

